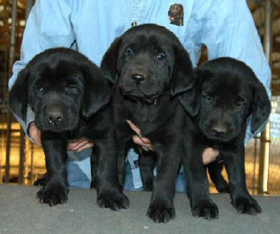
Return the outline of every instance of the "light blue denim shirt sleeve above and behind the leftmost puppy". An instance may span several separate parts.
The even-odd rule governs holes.
[[[16,82],[21,69],[36,54],[48,48],[70,48],[75,35],[70,22],[70,1],[36,0],[26,21],[21,43],[21,58],[14,63],[13,75],[9,80],[9,90]],[[28,135],[28,124],[34,120],[34,113],[28,106],[26,122],[15,116]]]

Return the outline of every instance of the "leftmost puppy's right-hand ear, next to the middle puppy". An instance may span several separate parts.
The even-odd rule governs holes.
[[[95,64],[90,63],[83,69],[85,91],[82,104],[82,116],[85,119],[102,109],[110,100],[110,81]]]

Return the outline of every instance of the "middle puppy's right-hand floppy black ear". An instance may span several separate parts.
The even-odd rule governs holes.
[[[174,46],[175,63],[171,79],[171,95],[174,97],[193,87],[193,65],[183,46]]]

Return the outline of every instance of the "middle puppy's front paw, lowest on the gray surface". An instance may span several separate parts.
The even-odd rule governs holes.
[[[156,223],[167,223],[175,218],[175,209],[164,203],[154,203],[149,206],[147,216]]]

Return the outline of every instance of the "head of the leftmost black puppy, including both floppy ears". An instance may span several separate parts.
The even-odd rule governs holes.
[[[35,112],[41,130],[71,131],[109,102],[109,85],[84,55],[66,48],[45,50],[18,74],[9,106],[25,119],[26,106]]]

